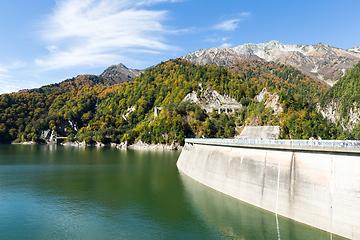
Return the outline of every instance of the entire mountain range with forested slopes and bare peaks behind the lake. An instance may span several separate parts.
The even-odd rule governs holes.
[[[272,41],[184,57],[197,64],[179,58],[141,71],[120,63],[98,76],[0,95],[0,142],[44,142],[51,135],[183,144],[189,136],[229,138],[244,126],[264,125],[280,126],[280,138],[360,139],[360,63],[350,67],[359,49]],[[317,68],[306,72],[280,60]],[[340,71],[334,87],[309,76],[334,69]]]

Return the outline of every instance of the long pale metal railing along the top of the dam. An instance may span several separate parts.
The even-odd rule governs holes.
[[[360,148],[359,140],[259,140],[259,139],[187,138],[185,139],[185,142]]]

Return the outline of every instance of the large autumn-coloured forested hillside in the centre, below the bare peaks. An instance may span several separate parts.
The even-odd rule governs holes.
[[[226,69],[176,59],[148,69],[134,81],[108,85],[88,75],[1,95],[0,140],[41,141],[41,130],[52,129],[67,141],[183,144],[189,136],[233,137],[249,124],[280,125],[282,138],[340,136],[339,128],[315,110],[326,87],[282,64],[243,61]],[[282,111],[255,100],[265,87],[278,97]],[[206,113],[182,102],[188,93],[201,94],[201,88],[229,95],[243,108],[230,114]],[[154,107],[163,107],[157,118]]]

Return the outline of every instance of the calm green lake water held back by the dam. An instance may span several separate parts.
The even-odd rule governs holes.
[[[179,154],[0,145],[0,239],[331,239],[184,176]]]

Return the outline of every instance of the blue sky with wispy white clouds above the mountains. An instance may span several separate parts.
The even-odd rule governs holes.
[[[278,40],[360,46],[359,0],[0,1],[0,94]]]

